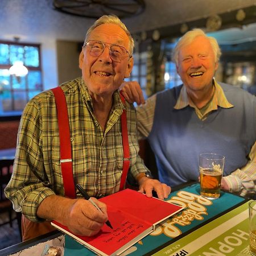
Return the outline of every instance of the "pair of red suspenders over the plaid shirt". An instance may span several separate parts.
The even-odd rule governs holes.
[[[76,198],[76,189],[73,179],[72,147],[68,122],[67,102],[65,99],[65,94],[60,86],[53,88],[52,92],[55,96],[55,102],[57,106],[57,118],[60,136],[60,164],[61,173],[63,176],[64,193],[67,197]],[[120,96],[122,102],[125,103],[125,98],[122,96],[122,94],[120,94]],[[119,191],[121,191],[125,187],[127,172],[130,166],[129,139],[127,133],[127,121],[125,110],[123,110],[123,113],[121,115],[121,127],[123,142],[123,171]]]

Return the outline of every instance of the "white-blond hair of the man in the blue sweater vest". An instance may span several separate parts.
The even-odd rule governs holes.
[[[175,62],[176,65],[178,64],[180,48],[192,43],[197,36],[204,36],[205,38],[208,38],[210,45],[212,46],[213,49],[215,62],[217,63],[220,60],[221,49],[220,46],[218,46],[217,40],[212,36],[207,36],[205,32],[200,28],[195,28],[185,33],[177,42],[174,51],[172,52],[172,60]]]

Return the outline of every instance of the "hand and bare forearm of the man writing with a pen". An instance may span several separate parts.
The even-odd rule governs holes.
[[[60,222],[75,234],[94,236],[108,220],[108,214],[104,203],[94,197],[91,199],[102,212],[85,199],[48,196],[39,205],[36,214],[40,218]]]

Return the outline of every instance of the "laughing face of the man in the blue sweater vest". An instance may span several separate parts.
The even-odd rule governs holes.
[[[197,36],[192,43],[181,47],[178,57],[177,73],[188,93],[205,91],[212,87],[218,63],[205,36]]]

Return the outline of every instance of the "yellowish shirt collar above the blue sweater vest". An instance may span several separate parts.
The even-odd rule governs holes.
[[[221,108],[227,108],[227,109],[232,108],[233,105],[230,104],[230,102],[226,98],[225,93],[221,88],[221,86],[215,80],[213,80],[213,84],[215,86],[215,90],[214,90],[214,94],[211,102],[212,104],[210,104],[209,106],[210,109],[211,110],[217,109],[218,106],[220,106]],[[174,109],[183,109],[188,105],[191,106],[192,108],[196,108],[195,104],[193,104],[193,102],[189,99],[187,90],[183,85],[180,90],[180,94],[174,106]]]

